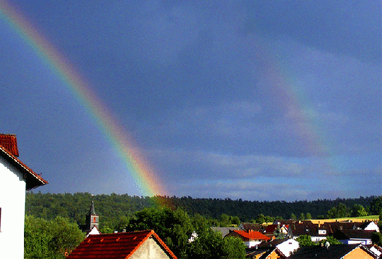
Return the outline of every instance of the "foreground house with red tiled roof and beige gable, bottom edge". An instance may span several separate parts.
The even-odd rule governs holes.
[[[154,230],[90,235],[67,259],[176,259]]]

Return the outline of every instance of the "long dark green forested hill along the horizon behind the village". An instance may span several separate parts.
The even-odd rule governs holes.
[[[143,208],[155,207],[162,203],[171,208],[182,208],[190,215],[196,213],[205,217],[218,219],[221,215],[238,216],[241,222],[249,222],[257,219],[260,214],[289,219],[296,215],[297,218],[309,213],[312,218],[322,218],[328,215],[331,208],[342,203],[346,206],[348,213],[355,204],[363,206],[367,213],[378,214],[374,207],[381,206],[382,197],[370,196],[359,198],[337,198],[335,200],[316,201],[242,201],[230,198],[192,198],[192,197],[143,197],[129,196],[128,194],[101,194],[95,195],[94,206],[100,220],[109,225],[115,225],[121,217],[129,217]],[[42,194],[27,192],[26,210],[27,215],[35,215],[44,219],[52,219],[57,216],[69,217],[85,224],[85,215],[90,208],[92,196],[89,193],[75,194]],[[378,204],[376,204],[378,201]],[[379,208],[379,207],[378,207]],[[376,215],[374,214],[374,215]]]

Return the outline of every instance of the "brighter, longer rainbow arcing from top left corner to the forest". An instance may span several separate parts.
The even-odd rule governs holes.
[[[111,110],[99,99],[75,65],[71,64],[32,23],[25,19],[16,6],[0,1],[0,18],[20,35],[37,56],[47,63],[51,71],[68,86],[75,99],[82,103],[87,113],[97,122],[106,139],[121,156],[140,194],[142,196],[166,195],[166,188],[158,179],[152,166],[142,156],[133,138],[118,123]]]

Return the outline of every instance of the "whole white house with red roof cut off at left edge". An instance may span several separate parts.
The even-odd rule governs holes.
[[[18,156],[16,135],[0,134],[0,258],[24,258],[25,191],[48,183]]]

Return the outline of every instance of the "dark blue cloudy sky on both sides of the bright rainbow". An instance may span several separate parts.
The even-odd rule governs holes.
[[[11,1],[8,1],[11,4]],[[381,1],[14,1],[168,195],[382,194]],[[0,132],[43,192],[137,194],[86,107],[0,15]]]

